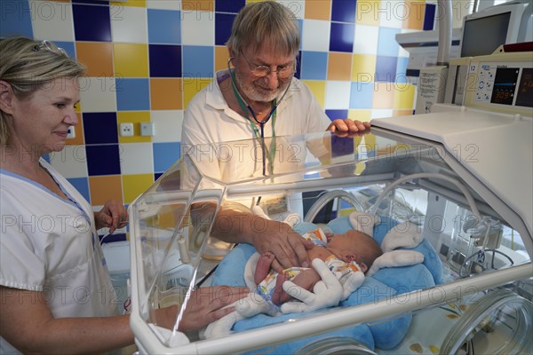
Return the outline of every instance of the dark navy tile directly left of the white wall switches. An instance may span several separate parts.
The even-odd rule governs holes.
[[[115,112],[84,113],[86,145],[118,143]]]

